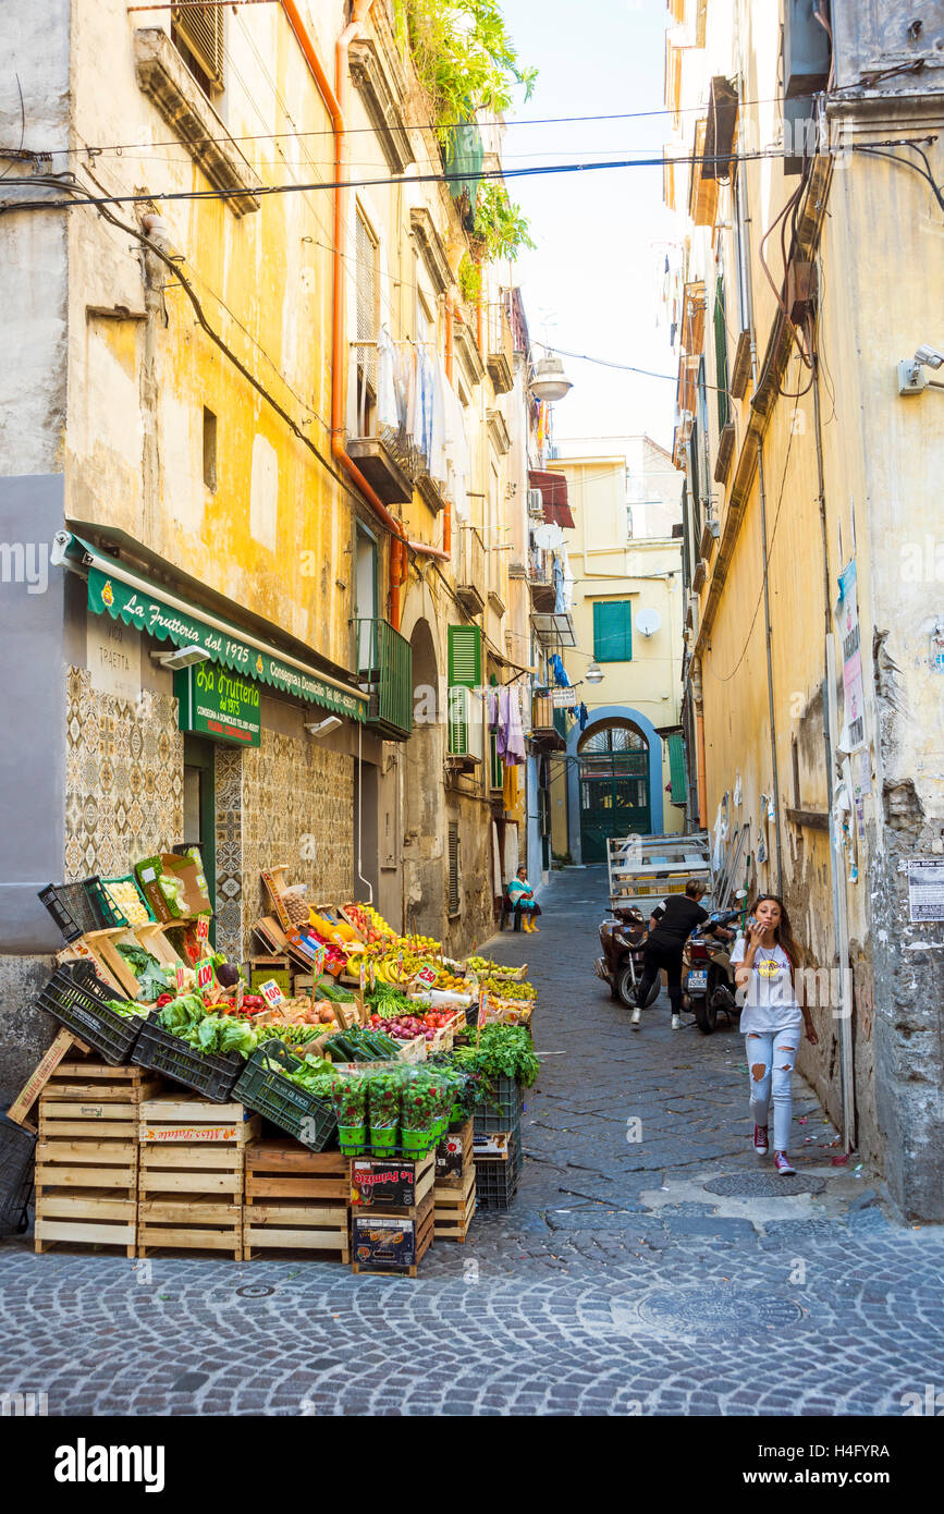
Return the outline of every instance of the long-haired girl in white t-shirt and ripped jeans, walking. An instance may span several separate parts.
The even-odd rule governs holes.
[[[800,1028],[814,1046],[818,1036],[809,1010],[797,1004],[794,972],[800,951],[784,901],[775,893],[762,893],[752,916],[747,937],[741,936],[731,952],[731,966],[738,989],[746,989],[741,1031],[750,1073],[753,1149],[758,1157],[770,1149],[767,1119],[773,1104],[773,1166],[791,1176],[796,1173],[788,1157],[793,1064]]]

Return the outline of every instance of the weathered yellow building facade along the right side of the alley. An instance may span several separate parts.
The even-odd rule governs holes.
[[[694,162],[666,198],[699,816],[820,974],[800,1069],[902,1210],[939,1219],[944,403],[912,354],[941,342],[944,160],[880,145],[939,115],[911,20],[679,0],[666,153]]]

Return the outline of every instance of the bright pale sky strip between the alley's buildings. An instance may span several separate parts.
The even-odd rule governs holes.
[[[502,11],[520,62],[539,70],[510,123],[664,109],[664,0],[504,0]],[[667,115],[510,124],[502,160],[510,170],[658,156],[670,135]],[[654,244],[673,241],[678,221],[663,206],[661,167],[511,179],[508,192],[537,244],[516,265],[531,341],[670,374],[669,333],[655,324]],[[640,431],[672,445],[675,380],[563,360],[573,389],[555,406],[561,451],[579,451],[572,439]]]

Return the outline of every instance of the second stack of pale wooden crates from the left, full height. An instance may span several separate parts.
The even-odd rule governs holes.
[[[259,1116],[198,1093],[142,1101],[139,1114],[138,1255],[171,1248],[242,1261],[245,1152]]]

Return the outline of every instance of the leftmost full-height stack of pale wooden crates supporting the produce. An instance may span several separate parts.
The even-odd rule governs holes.
[[[138,1245],[138,1116],[159,1083],[142,1067],[61,1061],[39,1098],[36,1251]]]

